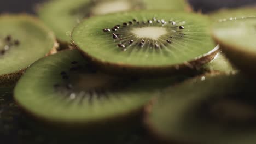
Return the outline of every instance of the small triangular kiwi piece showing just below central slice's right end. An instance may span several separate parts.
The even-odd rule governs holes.
[[[225,72],[225,73],[232,73],[237,71],[236,68],[229,62],[229,59],[226,58],[223,52],[218,52],[214,59],[203,65],[201,69],[204,73],[218,71],[218,72]]]

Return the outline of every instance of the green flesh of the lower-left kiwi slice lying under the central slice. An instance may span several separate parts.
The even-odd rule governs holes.
[[[68,50],[31,65],[18,81],[14,98],[49,124],[90,127],[136,115],[159,88],[176,79],[119,79],[91,67],[78,50]]]

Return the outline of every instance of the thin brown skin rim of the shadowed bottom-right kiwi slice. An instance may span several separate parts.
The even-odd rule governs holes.
[[[202,77],[202,76],[215,76],[215,75],[230,75],[230,74],[236,74],[234,73],[220,73],[218,71],[214,71],[212,73],[206,73],[203,74],[201,76],[197,76],[197,78]],[[186,81],[184,81],[183,83],[189,83],[191,81],[193,81],[194,79],[196,79],[196,77],[188,79]],[[178,83],[177,85],[174,85],[174,87],[177,87],[179,85],[182,85],[182,83]],[[154,143],[159,143],[159,144],[198,144],[196,142],[192,142],[190,140],[181,140],[181,139],[167,139],[165,136],[161,135],[158,130],[155,129],[155,127],[153,126],[153,124],[150,122],[149,120],[149,115],[152,112],[152,106],[154,105],[154,103],[156,103],[157,99],[153,98],[152,103],[147,105],[146,108],[144,109],[144,113],[143,113],[143,127],[145,129],[147,129],[148,131],[148,135],[150,137],[152,137],[152,141],[154,141]]]

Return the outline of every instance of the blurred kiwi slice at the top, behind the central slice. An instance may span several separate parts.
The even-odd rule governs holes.
[[[72,28],[85,17],[138,9],[183,11],[186,6],[187,3],[183,0],[53,0],[43,5],[39,16],[53,29],[58,39],[69,41]]]

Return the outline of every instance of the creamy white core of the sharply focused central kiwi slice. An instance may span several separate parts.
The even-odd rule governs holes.
[[[141,28],[134,28],[131,31],[136,37],[138,38],[148,38],[157,40],[162,35],[167,34],[166,28],[163,27],[141,27]]]

